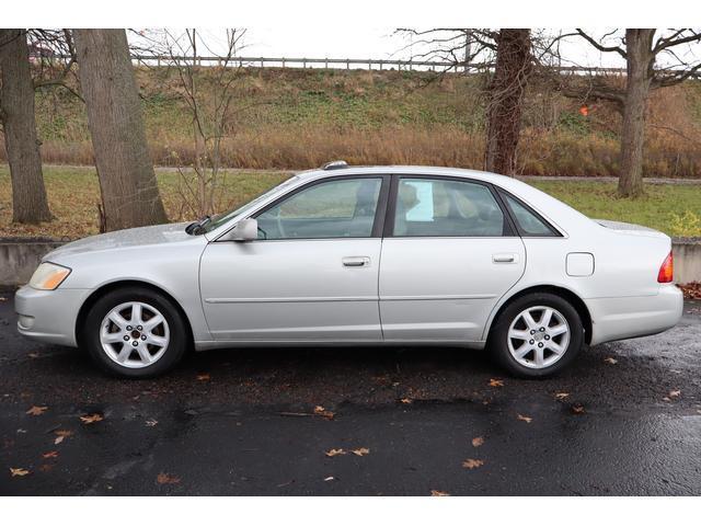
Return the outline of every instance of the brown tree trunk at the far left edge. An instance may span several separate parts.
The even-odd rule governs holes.
[[[0,116],[12,180],[12,220],[37,224],[48,208],[34,116],[34,82],[24,30],[0,30]]]

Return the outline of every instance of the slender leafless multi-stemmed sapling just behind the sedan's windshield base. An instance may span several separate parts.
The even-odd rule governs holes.
[[[221,141],[233,133],[234,95],[242,79],[242,64],[233,57],[243,46],[245,30],[226,30],[226,47],[208,47],[196,30],[182,35],[165,31],[154,35],[153,50],[169,57],[168,66],[175,70],[177,96],[185,103],[192,118],[194,158],[191,169],[179,161],[182,210],[196,216],[212,215],[221,207],[223,172],[221,170]],[[198,46],[210,56],[218,57],[217,66],[197,65]]]

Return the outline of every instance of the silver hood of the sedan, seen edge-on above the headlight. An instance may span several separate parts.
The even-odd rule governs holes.
[[[66,243],[49,252],[42,261],[51,261],[65,255],[97,252],[125,248],[152,247],[192,240],[194,237],[185,232],[186,222],[157,225],[153,227],[129,228],[115,232],[91,236]]]

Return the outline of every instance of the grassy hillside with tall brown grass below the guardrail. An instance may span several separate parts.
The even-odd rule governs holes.
[[[330,159],[353,163],[482,164],[485,79],[409,71],[246,69],[222,140],[231,168],[304,169]],[[215,68],[196,79],[211,91]],[[192,118],[176,75],[140,69],[138,82],[153,160],[193,161]],[[208,91],[210,90],[210,91]],[[214,101],[205,101],[211,107]],[[620,116],[531,87],[519,171],[541,175],[617,175]],[[701,178],[701,82],[662,90],[650,104],[645,175]],[[91,164],[82,103],[66,91],[37,94],[47,163]],[[2,149],[2,153],[4,150]]]

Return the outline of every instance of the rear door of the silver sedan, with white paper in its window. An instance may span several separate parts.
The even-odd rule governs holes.
[[[397,176],[380,265],[386,341],[479,342],[524,274],[524,243],[490,185]]]

